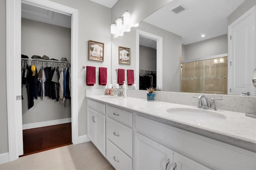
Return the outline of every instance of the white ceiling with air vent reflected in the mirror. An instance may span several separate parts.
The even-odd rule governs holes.
[[[143,21],[181,36],[182,44],[186,45],[227,34],[227,17],[242,2],[244,0],[173,0]],[[171,11],[180,4],[186,10],[179,14]]]

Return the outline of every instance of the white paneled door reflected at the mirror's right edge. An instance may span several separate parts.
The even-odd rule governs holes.
[[[255,94],[255,6],[228,26],[228,94]]]

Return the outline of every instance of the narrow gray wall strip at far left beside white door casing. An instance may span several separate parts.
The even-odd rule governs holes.
[[[7,94],[6,94],[6,1],[0,0],[0,154],[8,152]]]

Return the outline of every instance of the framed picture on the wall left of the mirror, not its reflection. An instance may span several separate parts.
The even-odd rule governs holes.
[[[89,40],[88,60],[104,61],[104,43]]]

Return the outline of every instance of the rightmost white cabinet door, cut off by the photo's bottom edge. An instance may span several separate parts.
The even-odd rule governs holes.
[[[173,170],[210,170],[210,168],[182,155],[173,152]]]

